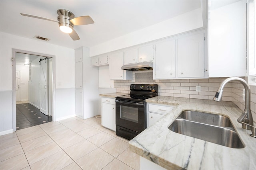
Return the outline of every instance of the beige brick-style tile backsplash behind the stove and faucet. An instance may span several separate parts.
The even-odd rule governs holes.
[[[133,72],[132,80],[114,80],[114,88],[116,92],[130,93],[130,84],[158,84],[158,96],[212,100],[221,82],[225,79],[153,80],[153,73],[145,71]],[[196,92],[196,86],[201,86],[201,92]],[[244,86],[236,81],[226,84],[222,101],[234,102],[236,106],[244,110],[243,88]],[[256,121],[256,86],[250,86],[250,88],[252,115]]]

